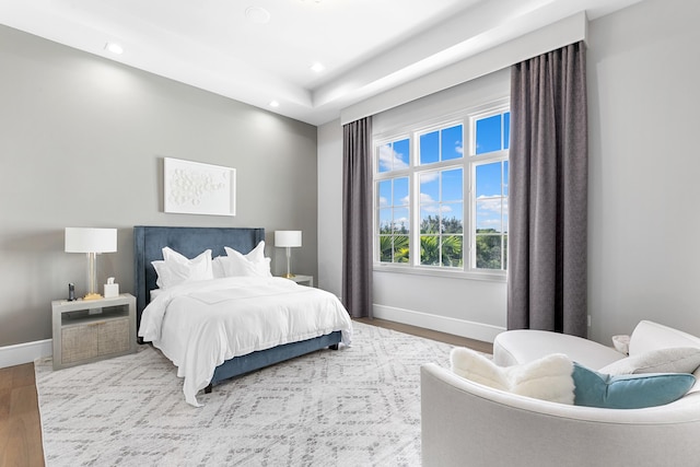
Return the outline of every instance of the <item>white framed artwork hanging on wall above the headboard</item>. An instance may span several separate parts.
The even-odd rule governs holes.
[[[236,215],[236,170],[163,157],[164,211]]]

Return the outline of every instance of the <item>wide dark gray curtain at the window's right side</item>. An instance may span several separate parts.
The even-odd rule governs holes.
[[[513,66],[509,329],[587,335],[586,119],[583,42]]]

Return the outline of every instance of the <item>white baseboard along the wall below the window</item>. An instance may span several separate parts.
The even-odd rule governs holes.
[[[450,318],[446,316],[431,315],[412,310],[397,308],[394,306],[374,305],[374,317],[389,322],[402,323],[425,329],[447,332],[482,342],[493,342],[495,336],[505,330],[500,326],[483,323],[468,322],[465,319]]]

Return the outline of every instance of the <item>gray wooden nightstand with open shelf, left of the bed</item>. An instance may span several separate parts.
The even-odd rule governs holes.
[[[136,352],[136,297],[55,300],[54,370]]]

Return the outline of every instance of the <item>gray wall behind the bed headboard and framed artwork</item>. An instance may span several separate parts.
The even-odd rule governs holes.
[[[163,157],[237,170],[237,215],[163,212]],[[0,347],[51,337],[50,301],[86,289],[66,226],[118,229],[98,282],[133,291],[133,225],[302,230],[317,273],[316,127],[0,26]]]

